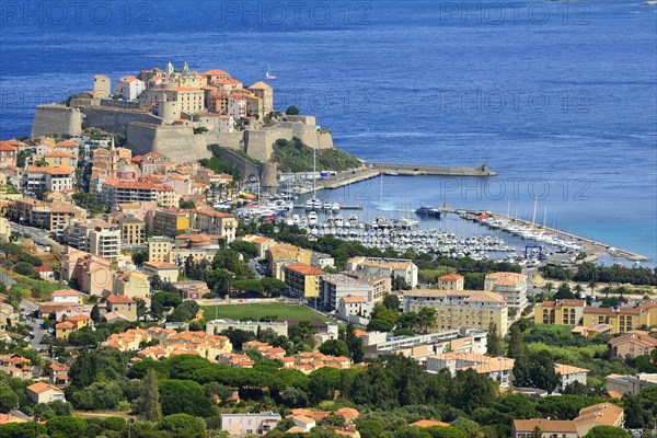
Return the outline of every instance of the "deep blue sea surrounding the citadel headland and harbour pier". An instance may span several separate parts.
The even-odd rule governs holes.
[[[369,161],[495,178],[385,177],[383,199],[531,217],[657,257],[657,8],[641,1],[3,1],[0,137],[34,106],[184,61],[277,79]],[[184,147],[184,146],[181,146]],[[380,197],[377,181],[342,189]]]

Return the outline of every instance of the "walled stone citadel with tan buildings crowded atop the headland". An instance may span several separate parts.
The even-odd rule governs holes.
[[[154,151],[180,161],[210,157],[208,145],[218,143],[237,152],[228,157],[233,161],[240,152],[257,161],[264,180],[275,178],[270,161],[278,139],[333,148],[331,131],[313,116],[275,113],[269,84],[244,87],[223,70],[199,72],[186,62],[180,70],[169,62],[164,70],[123,77],[114,90],[107,76],[95,74],[93,90],[71,96],[67,105],[39,105],[31,136],[79,136],[85,127],[126,136],[135,153]]]

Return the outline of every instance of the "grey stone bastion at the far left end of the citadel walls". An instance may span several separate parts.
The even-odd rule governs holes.
[[[69,108],[65,105],[38,105],[34,112],[30,136],[79,136],[82,134],[82,119],[83,115],[78,108]]]

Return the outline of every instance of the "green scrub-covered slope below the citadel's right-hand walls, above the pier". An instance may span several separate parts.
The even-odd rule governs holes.
[[[299,138],[292,140],[276,140],[274,143],[274,161],[280,172],[312,172],[313,149],[306,146]],[[339,149],[318,149],[316,170],[346,171],[360,168],[360,161],[354,155]]]

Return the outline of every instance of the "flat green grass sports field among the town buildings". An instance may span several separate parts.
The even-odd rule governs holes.
[[[277,315],[279,320],[288,318],[319,318],[331,321],[327,318],[313,312],[299,304],[257,303],[257,304],[231,304],[231,306],[203,306],[203,318],[207,321],[215,318],[227,318],[230,320],[250,319],[260,320],[262,316]]]

